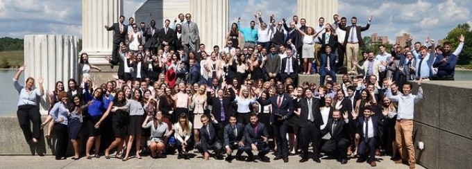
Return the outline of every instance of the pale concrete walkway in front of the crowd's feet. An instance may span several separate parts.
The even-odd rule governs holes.
[[[271,154],[269,154],[268,157],[273,159],[273,155]],[[394,161],[389,160],[389,156],[377,158],[378,162],[376,168],[408,168],[405,164],[395,164]],[[210,158],[209,161],[205,161],[201,159],[200,155],[190,160],[177,159],[176,155],[169,155],[167,159],[143,157],[142,159],[133,158],[128,161],[121,161],[120,159],[105,159],[105,157],[101,157],[99,159],[81,158],[76,161],[68,158],[57,161],[53,156],[0,156],[0,168],[371,168],[368,163],[356,163],[355,159],[349,160],[348,163],[344,165],[331,159],[321,159],[321,163],[315,163],[312,160],[305,163],[298,163],[298,160],[300,160],[300,157],[291,156],[289,157],[289,163],[283,163],[282,160],[271,160],[269,163],[258,160],[254,162],[233,160],[232,163],[228,163],[227,161],[213,158]],[[416,168],[421,169],[423,167],[416,165]]]

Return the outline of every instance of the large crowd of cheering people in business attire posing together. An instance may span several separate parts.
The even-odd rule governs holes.
[[[273,150],[273,160],[284,162],[300,153],[300,162],[319,163],[326,156],[344,164],[357,157],[370,166],[376,166],[376,155],[389,154],[414,168],[412,120],[414,104],[423,98],[421,82],[453,80],[462,35],[453,53],[450,43],[435,47],[428,38],[424,45],[431,46],[416,42],[412,47],[410,38],[391,53],[384,45],[378,55],[363,51],[364,59],[357,62],[364,46],[361,33],[372,17],[365,27],[356,25],[356,17],[350,26],[346,17],[334,15],[332,24],[321,17],[313,28],[297,16],[289,26],[274,15],[269,23],[262,12],[254,16],[249,28],[239,28],[239,18],[223,48],[215,45],[208,53],[188,13],[173,23],[166,19],[164,28],[155,28],[154,20],[138,27],[133,17],[126,25],[120,16],[119,23],[105,26],[114,31],[113,52],[106,60],[119,67],[117,80],[92,82],[90,69],[101,69],[81,53],[81,79],[68,80],[69,91],[62,81],[56,83],[48,93],[51,109],[44,123],[35,100],[44,95],[43,80],[39,88],[33,78],[20,86],[22,66],[13,81],[26,141],[37,143],[40,127],[52,121],[47,138],[56,134],[56,159],[66,159],[69,139],[72,159],[80,159],[78,138],[84,136],[87,159],[99,154],[109,159],[112,151],[123,161],[145,153],[166,158],[176,150],[178,159],[189,159],[189,150],[196,150],[207,160],[226,154],[227,161],[270,161],[266,154]],[[321,75],[319,84],[298,84],[299,74],[312,73]],[[417,95],[410,80],[418,83]]]

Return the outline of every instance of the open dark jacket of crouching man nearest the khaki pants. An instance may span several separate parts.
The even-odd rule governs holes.
[[[373,116],[370,116],[372,125],[373,125],[373,136],[380,139],[382,138],[383,135],[383,130],[381,127],[387,125],[388,121],[386,117],[384,117],[381,113],[380,114],[373,114]],[[356,118],[353,121],[353,126],[355,129],[355,132],[357,134],[360,134],[361,138],[364,138],[366,135],[364,132],[364,125],[365,125],[366,117],[365,116],[360,116],[359,118]]]

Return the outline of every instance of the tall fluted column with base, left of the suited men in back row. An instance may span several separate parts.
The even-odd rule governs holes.
[[[82,51],[91,64],[108,64],[112,54],[113,32],[103,26],[118,22],[123,14],[123,0],[82,0]],[[126,18],[128,19],[128,18]]]

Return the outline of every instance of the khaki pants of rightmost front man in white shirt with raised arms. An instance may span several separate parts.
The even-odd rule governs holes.
[[[395,142],[398,146],[398,152],[400,152],[402,159],[407,159],[405,154],[405,147],[410,158],[410,164],[415,163],[414,159],[414,145],[413,145],[413,121],[412,120],[401,120],[396,121],[395,124]],[[404,141],[404,143],[402,143]]]

